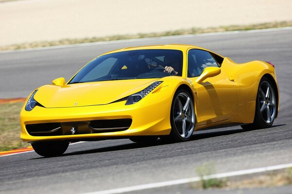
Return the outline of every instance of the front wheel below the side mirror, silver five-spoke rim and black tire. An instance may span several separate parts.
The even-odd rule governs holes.
[[[181,106],[182,110],[180,110],[179,108],[180,103],[178,103],[178,101],[182,101],[181,102],[181,105],[183,105],[183,107]],[[183,108],[186,106],[188,108],[183,110]],[[174,97],[171,103],[170,134],[161,136],[160,139],[164,142],[188,141],[193,134],[195,123],[196,123],[196,115],[195,115],[193,98],[186,90],[179,89],[174,94]],[[183,125],[184,125],[184,130],[183,130]]]

